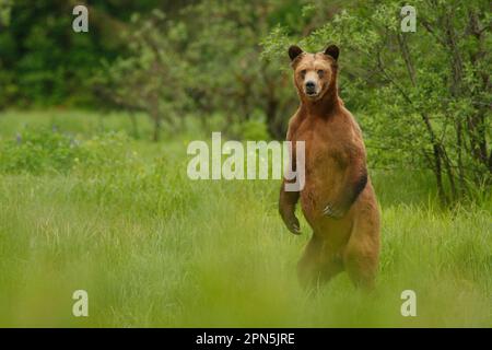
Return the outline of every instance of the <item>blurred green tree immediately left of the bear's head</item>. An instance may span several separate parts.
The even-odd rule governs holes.
[[[259,119],[271,137],[285,136],[293,102],[285,93],[290,81],[260,59],[260,38],[282,11],[292,9],[281,1],[256,0],[204,0],[184,11],[189,33],[184,58],[192,70],[188,91],[204,115],[224,116],[226,130]]]

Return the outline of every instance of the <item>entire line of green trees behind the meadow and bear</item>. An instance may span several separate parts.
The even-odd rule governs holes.
[[[432,172],[443,202],[490,189],[489,1],[0,2],[0,107],[127,110],[151,136],[186,129],[282,139],[297,105],[286,49],[341,48],[340,91],[361,122],[373,168]],[[10,21],[9,21],[10,19]]]

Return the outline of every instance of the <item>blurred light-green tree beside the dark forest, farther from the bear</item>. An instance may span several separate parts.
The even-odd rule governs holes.
[[[154,141],[160,140],[163,122],[176,128],[179,114],[189,103],[181,85],[187,62],[173,48],[173,37],[179,31],[171,27],[159,10],[143,18],[133,15],[132,25],[125,32],[129,55],[106,61],[92,81],[95,92],[114,106],[149,115]]]

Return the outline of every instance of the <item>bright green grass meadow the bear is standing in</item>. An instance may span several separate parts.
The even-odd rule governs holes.
[[[442,210],[432,177],[373,174],[376,290],[359,292],[343,273],[308,295],[295,265],[311,233],[305,221],[302,236],[282,225],[278,182],[191,182],[186,138],[106,142],[92,135],[125,129],[116,116],[107,126],[74,114],[0,116],[3,140],[24,116],[36,127],[58,118],[97,154],[66,172],[0,174],[0,326],[492,326],[490,198]],[[89,317],[72,316],[78,289]],[[417,317],[400,314],[407,289]]]

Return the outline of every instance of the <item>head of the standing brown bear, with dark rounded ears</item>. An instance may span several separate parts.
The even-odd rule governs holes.
[[[338,55],[336,45],[317,54],[305,52],[295,45],[289,48],[294,83],[302,100],[318,101],[328,91],[337,89]]]

